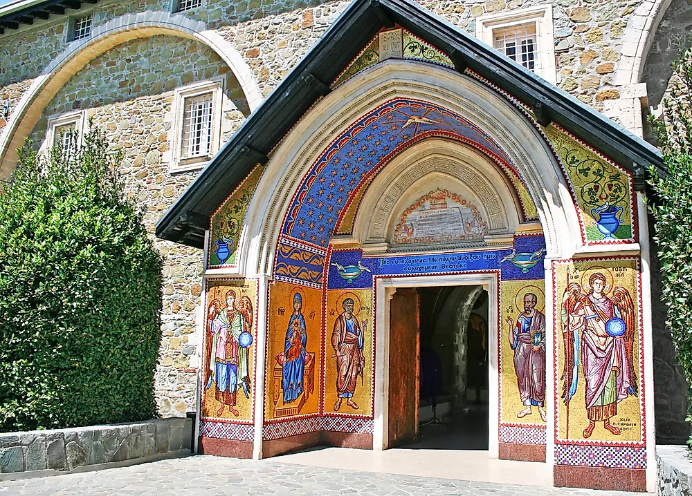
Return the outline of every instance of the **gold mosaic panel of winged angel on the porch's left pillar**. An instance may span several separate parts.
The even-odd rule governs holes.
[[[207,281],[201,417],[250,423],[255,390],[257,280]]]

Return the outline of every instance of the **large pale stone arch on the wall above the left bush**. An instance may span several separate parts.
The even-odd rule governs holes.
[[[172,35],[199,41],[214,50],[238,79],[248,106],[254,111],[262,102],[257,79],[245,59],[206,23],[169,12],[126,14],[95,26],[89,38],[72,41],[36,77],[19,100],[17,111],[0,133],[0,178],[6,178],[17,160],[19,148],[41,117],[44,108],[58,90],[89,61],[131,39],[154,35]]]

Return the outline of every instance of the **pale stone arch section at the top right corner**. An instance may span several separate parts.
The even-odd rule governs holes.
[[[622,35],[623,44],[614,84],[623,86],[636,84],[641,80],[649,48],[671,1],[644,0],[632,12]]]

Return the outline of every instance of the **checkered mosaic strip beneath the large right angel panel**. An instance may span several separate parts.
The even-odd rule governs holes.
[[[646,468],[646,447],[556,443],[555,463],[588,467]]]

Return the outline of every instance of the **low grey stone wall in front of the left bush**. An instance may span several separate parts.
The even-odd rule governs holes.
[[[0,434],[0,481],[99,470],[189,455],[192,420]]]

